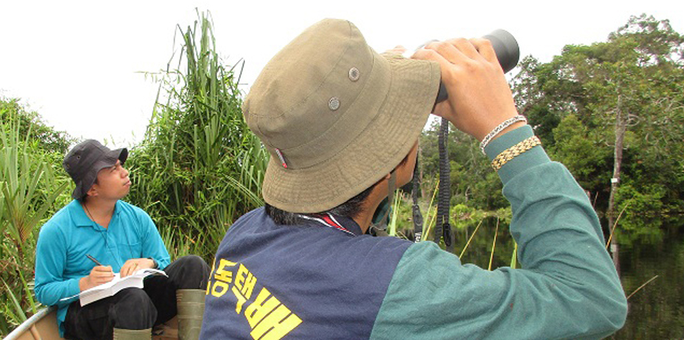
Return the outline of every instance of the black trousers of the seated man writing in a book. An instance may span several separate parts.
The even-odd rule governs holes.
[[[81,307],[69,305],[64,321],[66,339],[111,339],[114,328],[144,330],[176,315],[175,290],[206,289],[211,269],[202,257],[175,260],[164,272],[145,278],[145,287],[126,288],[116,295]]]

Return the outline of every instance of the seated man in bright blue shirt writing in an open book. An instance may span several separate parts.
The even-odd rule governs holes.
[[[76,145],[64,169],[76,184],[74,200],[41,228],[36,246],[36,297],[58,306],[66,339],[150,339],[151,328],[178,315],[180,339],[197,339],[209,266],[201,257],[170,262],[151,218],[123,202],[131,188],[123,167],[127,149],[96,140]],[[81,306],[78,293],[142,268],[168,276],[147,277],[143,289],[127,288]]]

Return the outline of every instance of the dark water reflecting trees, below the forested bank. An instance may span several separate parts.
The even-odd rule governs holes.
[[[487,268],[495,223],[484,224],[461,259]],[[460,253],[473,229],[456,233],[454,253]],[[626,295],[657,277],[628,299],[626,324],[608,339],[684,340],[684,223],[681,219],[649,221],[634,230],[617,233],[620,275]],[[491,268],[510,266],[512,254],[509,231],[500,229]]]

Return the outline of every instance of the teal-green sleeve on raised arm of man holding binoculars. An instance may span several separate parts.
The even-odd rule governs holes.
[[[490,159],[533,136],[515,129]],[[522,268],[461,264],[432,242],[400,260],[371,339],[601,339],[623,326],[627,301],[599,220],[568,170],[542,147],[499,170]]]

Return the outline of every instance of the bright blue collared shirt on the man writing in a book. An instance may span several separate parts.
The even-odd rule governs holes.
[[[108,228],[93,222],[81,203],[73,200],[48,220],[36,246],[36,297],[42,304],[58,306],[57,323],[63,321],[70,303],[78,301],[78,281],[96,265],[91,255],[114,273],[127,259],[151,257],[160,269],[171,262],[152,219],[137,206],[116,202]]]

